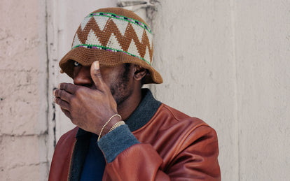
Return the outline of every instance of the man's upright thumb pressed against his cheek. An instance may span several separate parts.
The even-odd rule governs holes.
[[[92,77],[92,81],[94,81],[97,89],[104,91],[105,84],[101,71],[99,70],[99,61],[94,61],[92,66],[90,66],[90,76]]]

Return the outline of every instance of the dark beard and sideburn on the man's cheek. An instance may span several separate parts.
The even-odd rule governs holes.
[[[124,64],[123,71],[118,75],[118,79],[110,86],[111,94],[117,106],[123,103],[133,92],[133,87],[128,86],[131,70],[131,64]]]

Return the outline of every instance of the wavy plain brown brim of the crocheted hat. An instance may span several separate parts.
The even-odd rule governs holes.
[[[60,68],[69,77],[74,78],[74,62],[77,61],[83,66],[90,66],[92,62],[99,61],[101,66],[118,66],[120,64],[131,63],[139,65],[149,70],[149,73],[144,78],[144,84],[163,83],[163,78],[146,61],[127,55],[124,52],[110,52],[108,50],[91,49],[78,47],[70,50],[67,55],[64,55],[60,60]]]

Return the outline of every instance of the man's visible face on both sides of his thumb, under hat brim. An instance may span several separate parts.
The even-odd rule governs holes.
[[[102,79],[111,90],[117,105],[123,103],[133,92],[132,64],[100,66]],[[74,84],[97,89],[90,76],[90,66],[82,66],[74,61]]]

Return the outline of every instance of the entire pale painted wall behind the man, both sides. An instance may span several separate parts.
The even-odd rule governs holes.
[[[58,61],[83,17],[116,2],[1,1],[0,180],[47,180],[74,126],[53,103],[53,88],[71,82]],[[155,5],[156,98],[216,129],[222,180],[290,178],[290,1]]]

